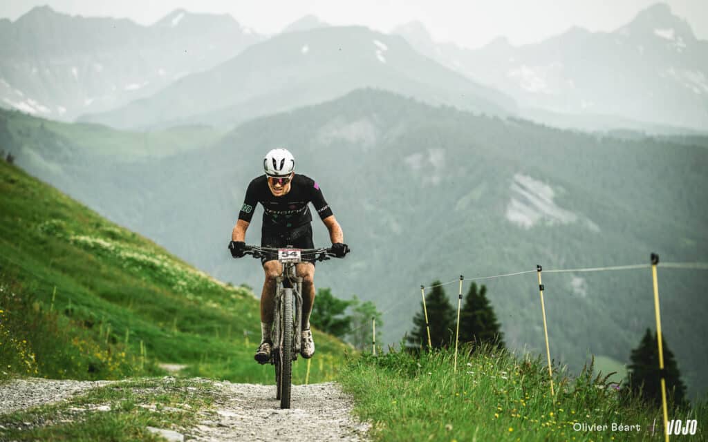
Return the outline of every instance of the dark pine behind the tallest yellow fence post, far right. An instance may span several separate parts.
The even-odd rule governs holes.
[[[627,374],[629,389],[641,395],[647,401],[661,405],[661,374],[659,370],[659,351],[657,346],[656,333],[651,335],[651,331],[646,329],[644,337],[641,338],[639,347],[632,350],[629,360],[629,373]],[[686,387],[680,379],[678,364],[673,353],[666,345],[666,339],[661,339],[664,378],[666,379],[666,391],[669,397],[673,397],[674,405],[683,405],[686,396]]]

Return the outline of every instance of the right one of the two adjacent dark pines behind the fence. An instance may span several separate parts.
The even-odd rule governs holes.
[[[474,344],[495,344],[504,347],[501,325],[486,297],[486,286],[472,283],[459,313],[459,341]]]

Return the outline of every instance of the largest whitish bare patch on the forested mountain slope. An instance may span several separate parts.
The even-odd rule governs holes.
[[[531,228],[539,223],[556,226],[583,221],[590,230],[600,230],[589,219],[559,207],[554,202],[556,192],[544,182],[517,173],[513,177],[510,189],[512,197],[506,207],[506,219],[520,227]]]

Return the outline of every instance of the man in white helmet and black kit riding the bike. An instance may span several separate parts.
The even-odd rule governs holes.
[[[239,211],[232,232],[229,250],[234,258],[244,256],[246,229],[249,228],[253,209],[257,203],[263,206],[263,227],[261,228],[261,247],[282,248],[292,245],[295,248],[314,248],[312,243],[312,214],[308,203],[312,202],[320,219],[329,230],[332,252],[337,257],[344,257],[349,248],[344,244],[344,234],[332,214],[329,204],[324,199],[319,185],[305,175],[295,173],[295,158],[287,149],[273,149],[263,158],[265,175],[254,178],[246,190],[244,204]],[[261,258],[265,281],[261,292],[261,344],[255,359],[265,364],[270,359],[273,341],[270,332],[273,329],[273,309],[275,297],[275,278],[282,273],[282,265],[277,255]],[[302,347],[300,354],[309,359],[314,354],[314,341],[309,327],[309,317],[314,303],[314,257],[297,264],[297,274],[302,277]]]

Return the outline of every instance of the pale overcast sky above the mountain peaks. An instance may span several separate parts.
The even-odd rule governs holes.
[[[82,16],[127,17],[150,25],[176,8],[229,13],[258,33],[277,33],[298,18],[314,14],[333,25],[360,24],[389,32],[421,21],[437,41],[465,47],[506,36],[514,45],[538,42],[572,25],[614,30],[656,0],[0,0],[0,17],[16,20],[34,6]],[[697,37],[708,40],[708,0],[667,0]]]

